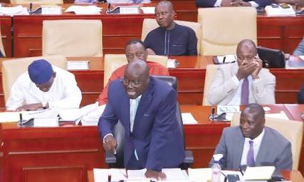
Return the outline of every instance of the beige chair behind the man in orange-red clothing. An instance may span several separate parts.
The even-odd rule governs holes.
[[[154,61],[167,68],[167,56],[149,55],[147,61]],[[103,86],[108,84],[108,80],[115,69],[127,64],[125,54],[105,54],[105,72],[103,76]]]

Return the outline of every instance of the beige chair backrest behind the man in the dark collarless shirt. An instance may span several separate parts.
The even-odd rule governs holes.
[[[174,20],[175,23],[183,26],[189,26],[191,29],[194,30],[197,38],[197,52],[199,52],[200,40],[201,40],[201,24],[192,21],[181,21],[181,20]],[[155,19],[144,19],[142,23],[142,41],[145,41],[147,34],[159,27],[157,21]]]

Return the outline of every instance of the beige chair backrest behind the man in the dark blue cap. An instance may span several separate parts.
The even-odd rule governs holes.
[[[28,65],[38,59],[46,59],[46,61],[48,61],[52,65],[66,70],[66,59],[65,56],[62,55],[28,57],[2,61],[2,83],[4,89],[5,102],[9,98],[9,95],[11,93],[11,86],[13,86],[16,79],[21,74],[28,71]]]

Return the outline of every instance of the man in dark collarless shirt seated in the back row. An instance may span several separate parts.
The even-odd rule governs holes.
[[[148,54],[160,56],[197,56],[197,38],[194,30],[174,22],[171,2],[159,1],[155,6],[159,27],[145,38]]]

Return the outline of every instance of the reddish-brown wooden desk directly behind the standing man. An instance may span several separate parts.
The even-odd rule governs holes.
[[[293,119],[283,104],[267,106],[271,113],[284,111],[288,118]],[[194,153],[192,167],[206,168],[223,128],[230,123],[209,121],[211,106],[181,106],[181,109],[183,113],[191,112],[199,121],[198,124],[184,125],[186,148]],[[87,171],[106,168],[96,126],[61,123],[57,128],[20,128],[16,123],[0,123],[0,129],[0,140],[3,138],[4,141],[4,182],[47,178],[86,181]],[[61,178],[65,175],[73,178]]]

